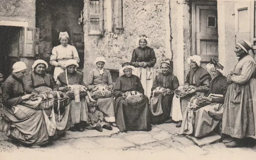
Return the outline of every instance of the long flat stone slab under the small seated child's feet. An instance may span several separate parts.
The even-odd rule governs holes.
[[[102,132],[96,131],[96,130],[84,130],[84,132],[72,132],[72,131],[66,131],[65,137],[61,137],[61,139],[77,139],[77,138],[83,138],[83,137],[110,137],[111,135],[119,133],[120,130],[116,127],[113,127],[113,130],[106,130],[103,129]]]

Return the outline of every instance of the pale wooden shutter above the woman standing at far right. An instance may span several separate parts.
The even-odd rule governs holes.
[[[236,42],[244,39],[254,45],[254,1],[236,2],[235,37]]]

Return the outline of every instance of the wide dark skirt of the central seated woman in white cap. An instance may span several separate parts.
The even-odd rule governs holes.
[[[122,97],[115,103],[116,124],[121,132],[151,131],[148,98],[136,103],[127,103]]]

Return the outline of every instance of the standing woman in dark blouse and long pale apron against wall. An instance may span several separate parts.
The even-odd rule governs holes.
[[[132,66],[136,67],[135,75],[140,78],[144,89],[144,95],[150,99],[151,88],[154,81],[154,65],[156,56],[154,49],[147,46],[148,38],[146,35],[139,36],[139,47],[132,52]]]

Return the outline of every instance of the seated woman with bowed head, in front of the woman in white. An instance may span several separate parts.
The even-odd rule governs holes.
[[[68,92],[71,90],[70,85],[79,85],[81,88],[85,88],[83,74],[76,71],[78,64],[76,60],[70,59],[66,61],[65,68],[66,72],[62,72],[57,79],[57,84],[60,86],[59,90],[62,92]],[[74,95],[74,93],[73,93]],[[74,100],[71,98],[70,101],[70,114],[71,114],[71,123],[74,127],[70,128],[70,131],[84,131],[85,125],[88,121],[88,108],[85,96],[82,97],[78,95],[80,101]]]

